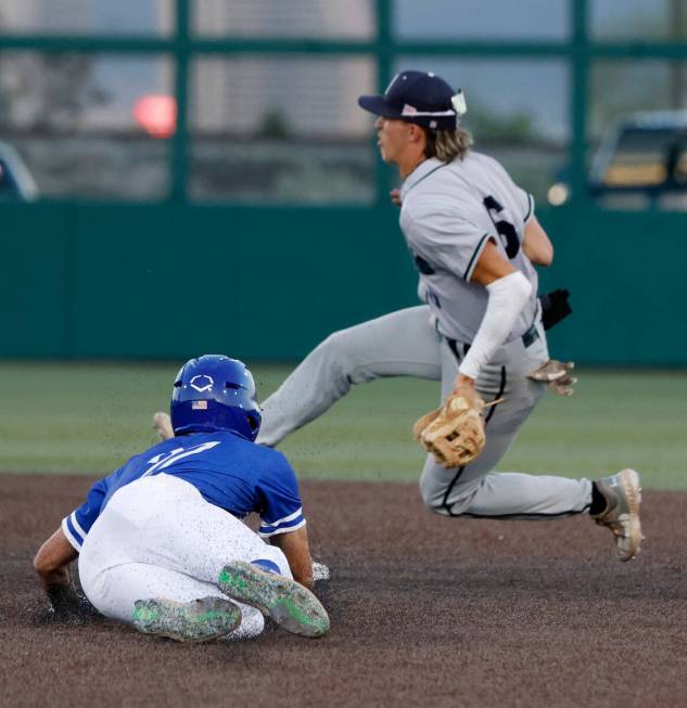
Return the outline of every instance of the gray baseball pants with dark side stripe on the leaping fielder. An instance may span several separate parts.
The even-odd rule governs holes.
[[[546,335],[529,346],[504,345],[480,375],[486,402],[486,447],[469,465],[444,469],[428,455],[420,478],[424,503],[437,514],[491,518],[556,518],[588,510],[591,482],[492,471],[516,439],[546,385],[526,374],[548,360]],[[257,442],[273,447],[318,417],[354,384],[383,376],[417,376],[442,382],[442,399],[453,388],[465,345],[437,334],[427,306],[412,307],[329,336],[263,404]],[[418,411],[418,417],[424,411]]]

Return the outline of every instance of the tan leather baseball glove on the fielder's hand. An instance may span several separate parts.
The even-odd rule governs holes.
[[[484,401],[472,388],[451,391],[441,408],[423,415],[412,427],[420,445],[442,467],[461,467],[484,449]]]

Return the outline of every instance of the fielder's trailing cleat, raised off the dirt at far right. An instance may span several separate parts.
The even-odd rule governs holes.
[[[639,523],[639,475],[634,469],[623,469],[611,477],[598,479],[595,485],[606,498],[607,506],[593,518],[613,532],[618,558],[629,561],[637,555],[639,544],[644,541]]]

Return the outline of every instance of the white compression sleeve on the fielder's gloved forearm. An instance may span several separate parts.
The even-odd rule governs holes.
[[[516,325],[518,316],[527,302],[532,285],[517,271],[486,286],[489,299],[486,312],[474,337],[470,351],[458,368],[456,386],[466,378],[476,379]]]

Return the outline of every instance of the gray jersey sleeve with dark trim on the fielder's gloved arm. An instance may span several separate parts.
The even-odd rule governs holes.
[[[467,219],[443,213],[416,213],[402,223],[414,250],[435,268],[470,281],[480,256],[494,234]]]

